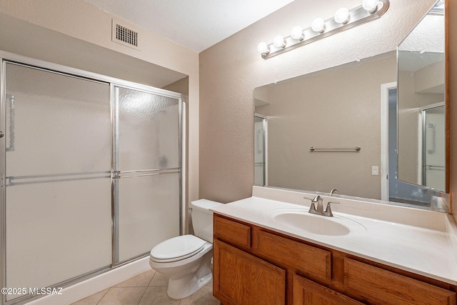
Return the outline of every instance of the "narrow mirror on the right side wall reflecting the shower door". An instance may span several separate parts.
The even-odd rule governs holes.
[[[446,191],[443,12],[438,1],[398,46],[398,179],[440,191]]]

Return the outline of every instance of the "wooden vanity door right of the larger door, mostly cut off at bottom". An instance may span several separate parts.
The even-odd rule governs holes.
[[[361,305],[344,294],[333,291],[296,274],[293,275],[293,305]]]

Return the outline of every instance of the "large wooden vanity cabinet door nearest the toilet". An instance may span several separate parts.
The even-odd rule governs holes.
[[[286,304],[286,271],[218,239],[213,284],[222,304]]]

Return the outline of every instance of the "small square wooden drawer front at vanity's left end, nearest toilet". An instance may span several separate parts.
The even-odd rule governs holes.
[[[251,248],[251,227],[214,215],[214,237],[229,244]]]

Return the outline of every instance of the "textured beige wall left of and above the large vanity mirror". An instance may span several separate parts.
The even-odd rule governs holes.
[[[393,51],[434,0],[396,0],[386,14],[286,54],[263,60],[257,44],[287,36],[296,25],[329,18],[360,1],[296,0],[200,54],[201,198],[229,202],[251,196],[253,185],[253,89],[301,74]]]

